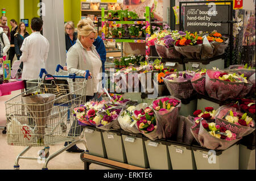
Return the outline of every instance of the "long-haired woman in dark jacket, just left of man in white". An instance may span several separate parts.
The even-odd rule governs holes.
[[[30,36],[30,34],[26,30],[25,23],[20,22],[17,32],[14,35],[14,45],[15,45],[15,53],[18,60],[22,55],[22,51],[20,48],[22,47],[23,41],[26,37]],[[20,64],[20,69],[23,69],[23,62]],[[20,69],[18,71],[20,71]]]

